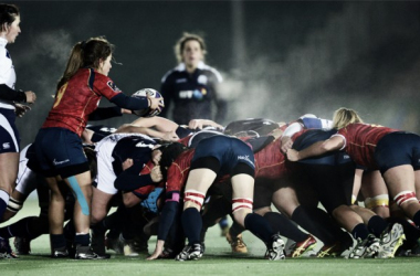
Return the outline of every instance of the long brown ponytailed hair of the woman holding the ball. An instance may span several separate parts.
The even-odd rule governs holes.
[[[56,89],[59,91],[63,84],[76,74],[82,67],[98,68],[101,60],[106,60],[113,52],[115,46],[111,44],[104,36],[92,38],[87,41],[77,42],[70,53],[69,62],[64,74],[59,81]]]

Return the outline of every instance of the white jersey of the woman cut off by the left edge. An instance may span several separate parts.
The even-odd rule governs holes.
[[[17,74],[9,51],[6,49],[8,41],[0,38],[0,84],[6,84],[14,89]],[[0,99],[0,108],[14,109],[12,103]]]

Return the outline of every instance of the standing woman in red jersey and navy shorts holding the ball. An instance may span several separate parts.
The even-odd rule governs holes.
[[[81,41],[73,46],[56,86],[53,107],[35,138],[36,159],[52,190],[49,209],[52,257],[69,255],[63,235],[65,200],[59,187],[63,179],[76,198],[74,257],[98,258],[90,246],[92,176],[81,135],[88,119],[109,117],[104,114],[104,108],[97,107],[101,98],[106,97],[119,107],[118,110],[156,109],[159,106],[157,98],[126,96],[107,76],[113,50],[114,45],[104,38]],[[30,163],[28,166],[31,168]]]

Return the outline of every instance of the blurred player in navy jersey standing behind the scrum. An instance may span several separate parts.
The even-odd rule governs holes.
[[[179,125],[188,125],[191,119],[213,119],[222,123],[227,113],[227,103],[219,96],[218,86],[222,82],[220,73],[204,63],[207,54],[204,40],[192,33],[183,33],[175,45],[175,55],[179,65],[161,79],[160,93],[165,98],[168,116],[174,104],[171,117]],[[217,110],[213,110],[213,103]]]

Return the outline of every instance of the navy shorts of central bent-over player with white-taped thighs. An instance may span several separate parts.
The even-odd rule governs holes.
[[[233,176],[233,169],[240,163],[248,166],[252,171],[255,170],[252,149],[238,138],[217,135],[201,140],[191,160],[191,170],[203,168],[198,162],[208,157],[213,157],[219,161],[220,174]]]

